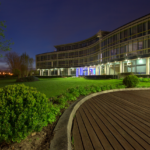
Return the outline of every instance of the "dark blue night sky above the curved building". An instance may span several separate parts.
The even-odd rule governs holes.
[[[53,52],[54,45],[112,31],[150,13],[150,0],[0,0],[6,39],[19,55]],[[5,53],[0,52],[5,55]],[[35,68],[35,63],[34,66]],[[7,69],[0,58],[0,69]]]

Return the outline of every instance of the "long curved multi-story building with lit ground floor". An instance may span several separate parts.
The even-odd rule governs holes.
[[[41,76],[149,74],[150,14],[112,32],[100,30],[86,40],[54,47],[57,51],[36,55]]]

